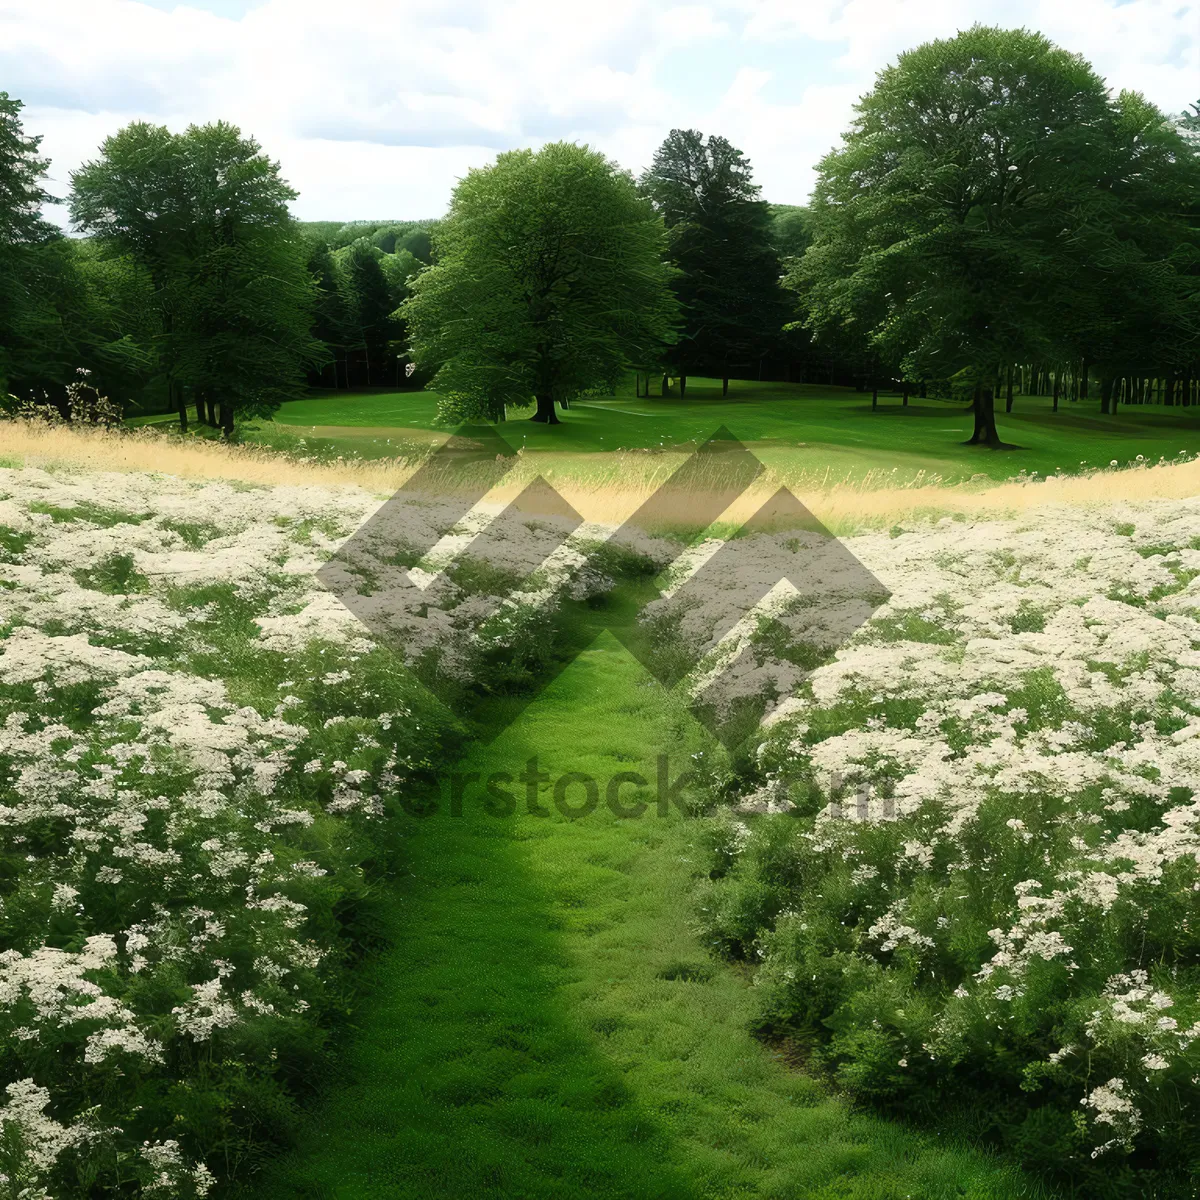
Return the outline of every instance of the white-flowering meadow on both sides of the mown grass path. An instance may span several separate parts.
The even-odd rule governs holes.
[[[378,505],[0,469],[0,1195],[204,1195],[287,1139],[397,852],[380,817],[450,736],[317,580]],[[984,1093],[1031,1162],[1189,1170],[1200,502],[846,546],[890,598],[767,673],[761,786],[706,827],[714,944],[859,1094]],[[414,593],[394,641],[510,668],[556,589],[602,584],[557,554],[494,619],[478,578]],[[856,602],[776,614],[836,642]],[[713,649],[703,604],[679,619]]]

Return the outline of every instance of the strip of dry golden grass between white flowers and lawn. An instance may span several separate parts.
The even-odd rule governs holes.
[[[617,451],[520,456],[488,500],[506,503],[539,474],[586,520],[618,524],[650,497],[684,460],[683,452]],[[355,486],[377,496],[394,492],[412,476],[415,462],[372,460],[320,464],[256,446],[182,442],[155,432],[107,433],[20,421],[0,422],[0,462],[85,470],[151,472],[182,479],[229,479],[263,486]],[[476,462],[473,470],[479,469]],[[449,464],[433,490],[454,491],[463,479]],[[713,480],[716,482],[716,480]],[[976,481],[947,486],[917,480],[896,487],[887,472],[857,480],[830,479],[798,467],[775,466],[727,511],[722,523],[750,516],[779,487],[788,487],[826,526],[845,533],[922,516],[1020,514],[1048,504],[1099,504],[1114,500],[1181,499],[1200,494],[1200,461],[1093,472],[1043,482]],[[678,523],[688,526],[692,504],[679,498]],[[671,523],[668,517],[668,523]]]

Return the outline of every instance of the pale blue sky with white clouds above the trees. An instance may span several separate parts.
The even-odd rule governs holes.
[[[0,90],[60,194],[130,120],[223,118],[307,220],[436,216],[469,167],[558,138],[636,172],[673,126],[802,204],[875,73],[974,22],[1039,29],[1170,112],[1200,98],[1196,0],[0,0]]]

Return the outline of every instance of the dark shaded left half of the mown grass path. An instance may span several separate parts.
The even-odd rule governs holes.
[[[476,750],[474,769],[520,772],[538,749],[524,724]],[[301,1145],[251,1193],[692,1195],[670,1139],[594,1045],[604,1030],[562,997],[576,974],[564,898],[530,870],[529,821],[478,800],[452,816],[449,800],[446,779],[436,812],[398,818],[410,844],[386,901],[395,942],[360,980],[353,1038]]]

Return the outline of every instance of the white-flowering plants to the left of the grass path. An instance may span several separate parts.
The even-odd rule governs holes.
[[[0,470],[0,1196],[287,1136],[446,733],[314,578],[376,503]]]

